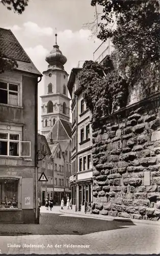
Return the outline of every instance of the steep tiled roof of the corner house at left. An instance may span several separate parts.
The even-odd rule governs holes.
[[[16,70],[42,76],[10,29],[0,28],[0,52],[6,58],[14,58],[17,61],[18,68]]]

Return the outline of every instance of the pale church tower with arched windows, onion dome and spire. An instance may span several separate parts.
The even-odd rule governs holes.
[[[52,126],[58,120],[66,123],[70,119],[70,98],[68,97],[68,74],[64,70],[67,58],[62,54],[56,42],[51,52],[46,56],[48,68],[43,72],[44,95],[41,96],[41,132],[47,137]]]

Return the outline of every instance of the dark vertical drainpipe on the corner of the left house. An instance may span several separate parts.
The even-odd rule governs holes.
[[[39,207],[38,207],[38,184],[37,184],[37,179],[38,179],[38,157],[37,157],[37,152],[38,152],[38,83],[42,80],[42,76],[40,76],[40,80],[37,81],[37,86],[36,86],[36,91],[35,91],[35,133],[36,133],[36,143],[35,143],[35,184],[36,184],[36,223],[39,224]]]

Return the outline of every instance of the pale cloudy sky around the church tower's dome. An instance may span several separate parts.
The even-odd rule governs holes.
[[[52,50],[57,32],[57,43],[67,57],[64,68],[70,74],[79,60],[93,60],[93,52],[102,43],[85,26],[93,22],[94,12],[91,0],[30,0],[21,15],[7,10],[0,2],[0,26],[12,30],[41,73],[47,70],[45,56]],[[98,51],[95,57],[102,49]],[[41,129],[40,95],[43,92],[42,77],[38,88],[38,130]]]

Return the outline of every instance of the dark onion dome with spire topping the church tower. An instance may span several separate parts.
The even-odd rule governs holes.
[[[56,44],[51,52],[46,56],[45,60],[48,62],[49,66],[57,65],[63,66],[67,62],[67,58],[62,54],[57,45],[57,34],[56,36]]]

